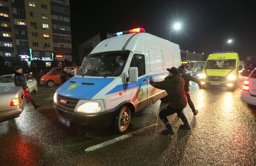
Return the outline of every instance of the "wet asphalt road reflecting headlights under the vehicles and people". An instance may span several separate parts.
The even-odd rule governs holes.
[[[121,135],[59,123],[51,107],[55,89],[40,86],[33,96],[41,109],[27,103],[20,117],[0,123],[0,165],[256,165],[256,107],[243,103],[238,90],[192,84],[199,113],[184,109],[190,131],[178,129],[182,122],[173,114],[176,134],[162,135],[158,113],[167,104],[159,100],[132,117],[123,134],[129,137],[85,152]]]

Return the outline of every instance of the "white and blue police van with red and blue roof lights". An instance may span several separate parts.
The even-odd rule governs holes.
[[[181,64],[179,45],[144,31],[115,33],[87,55],[77,74],[54,94],[60,122],[94,129],[113,125],[122,133],[131,114],[167,95],[151,86],[149,77],[162,81],[166,69]]]

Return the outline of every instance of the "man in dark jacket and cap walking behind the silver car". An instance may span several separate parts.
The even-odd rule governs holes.
[[[14,69],[15,69],[15,73],[12,76],[12,81],[14,82],[15,86],[22,86],[23,87],[23,91],[24,91],[24,95],[25,95],[26,99],[28,99],[30,101],[30,103],[34,106],[34,108],[37,109],[41,105],[36,104],[33,97],[29,93],[29,88],[26,85],[25,76],[22,73],[23,72],[22,67],[21,66],[15,66]]]

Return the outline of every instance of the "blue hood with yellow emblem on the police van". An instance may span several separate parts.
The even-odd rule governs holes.
[[[101,77],[72,77],[56,92],[65,97],[76,99],[91,100],[98,92],[111,83],[114,78]]]

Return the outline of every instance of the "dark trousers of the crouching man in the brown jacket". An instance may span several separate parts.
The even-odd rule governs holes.
[[[165,124],[165,126],[167,126],[169,123],[167,116],[177,113],[179,115],[179,117],[181,118],[182,122],[184,120],[186,120],[186,116],[185,114],[183,114],[183,109],[174,109],[171,108],[170,106],[165,107],[164,109],[162,109],[162,111],[159,112],[159,117],[160,119],[163,121],[163,123]]]

